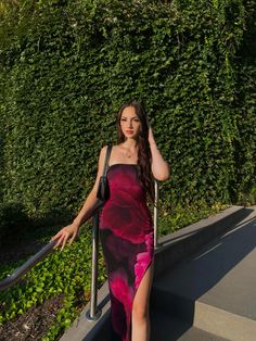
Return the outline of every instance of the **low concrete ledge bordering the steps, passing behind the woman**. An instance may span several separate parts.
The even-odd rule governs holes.
[[[231,206],[219,214],[159,238],[158,247],[155,251],[154,276],[158,277],[165,269],[188,257],[209,240],[225,233],[227,229],[232,228],[247,215],[248,213],[243,206]],[[94,323],[87,321],[86,312],[89,310],[88,304],[60,341],[111,341],[107,282],[98,291],[98,298],[100,302],[99,307],[102,308],[100,319]]]

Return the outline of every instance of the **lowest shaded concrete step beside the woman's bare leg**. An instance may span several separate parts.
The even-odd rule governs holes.
[[[227,341],[220,337],[171,317],[162,311],[151,312],[151,341]]]

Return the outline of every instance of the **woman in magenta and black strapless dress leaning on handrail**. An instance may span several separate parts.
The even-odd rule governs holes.
[[[100,237],[108,275],[113,340],[149,341],[149,298],[153,278],[154,233],[148,199],[154,181],[169,177],[143,106],[125,103],[117,114],[118,144],[108,160],[110,199],[100,219]],[[106,147],[101,150],[95,184],[74,222],[52,239],[56,247],[73,242],[95,205]]]

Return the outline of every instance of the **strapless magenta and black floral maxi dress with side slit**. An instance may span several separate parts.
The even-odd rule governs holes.
[[[138,165],[107,169],[110,199],[100,218],[108,276],[113,340],[130,341],[132,302],[154,257],[154,231]]]

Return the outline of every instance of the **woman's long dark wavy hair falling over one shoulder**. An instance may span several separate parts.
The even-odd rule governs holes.
[[[117,126],[117,135],[118,135],[118,143],[123,143],[126,140],[125,135],[120,128],[120,118],[124,109],[127,106],[133,106],[136,110],[136,114],[141,124],[140,135],[138,137],[138,166],[139,166],[139,180],[143,186],[146,194],[154,203],[155,192],[154,192],[154,180],[151,172],[151,161],[152,154],[149,143],[149,124],[148,124],[148,115],[143,108],[143,105],[137,100],[130,100],[124,103],[117,114],[116,117],[116,126]]]

